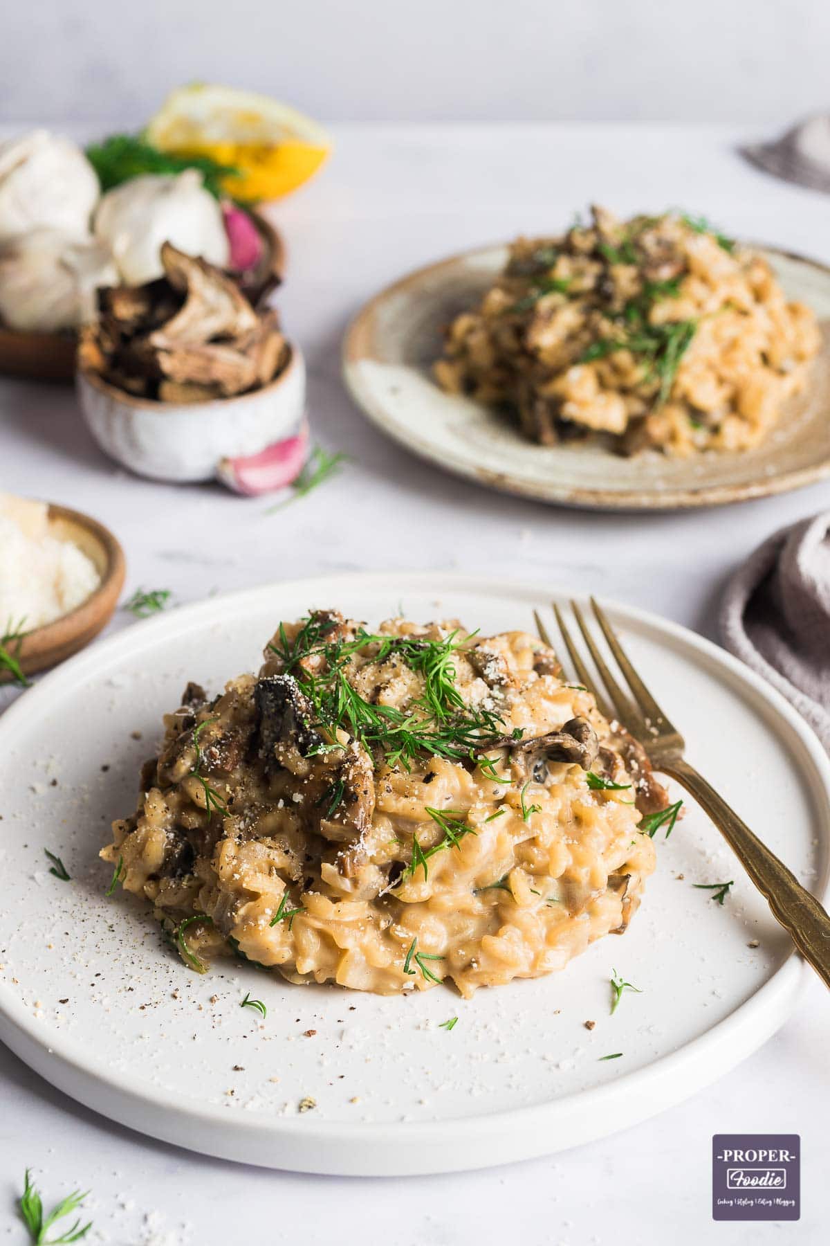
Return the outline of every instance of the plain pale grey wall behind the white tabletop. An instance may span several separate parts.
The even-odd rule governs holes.
[[[824,0],[37,0],[0,40],[0,116],[141,125],[193,78],[352,121],[733,120],[826,107]],[[32,72],[32,64],[37,69]]]

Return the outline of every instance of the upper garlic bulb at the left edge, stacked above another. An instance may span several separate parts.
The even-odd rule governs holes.
[[[68,138],[32,130],[0,143],[0,242],[30,229],[86,233],[98,178]]]

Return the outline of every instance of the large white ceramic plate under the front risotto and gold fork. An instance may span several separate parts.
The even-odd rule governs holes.
[[[326,606],[373,623],[402,607],[488,632],[530,630],[545,601],[531,584],[398,573],[259,588],[136,623],[21,697],[0,719],[0,1038],[12,1050],[156,1138],[274,1168],[391,1175],[505,1163],[622,1129],[693,1094],[786,1019],[808,971],[696,809],[658,840],[658,871],[625,936],[561,974],[469,1002],[443,987],[409,999],[295,987],[229,962],[198,977],[139,903],[107,900],[97,851],[110,820],[133,807],[162,711],[189,678],[219,689],[256,668],[280,618]],[[708,642],[607,608],[691,758],[823,893],[830,765],[808,728]],[[71,882],[47,872],[46,847]],[[692,886],[730,878],[723,907]],[[626,992],[610,1015],[615,968],[642,994]],[[246,992],[265,1019],[240,1007]],[[454,1015],[452,1032],[439,1028]],[[316,1108],[299,1113],[305,1096]]]

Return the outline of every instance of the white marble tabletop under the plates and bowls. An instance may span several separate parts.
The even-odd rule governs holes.
[[[682,204],[730,232],[830,260],[828,202],[764,178],[727,127],[489,126],[337,130],[319,181],[275,209],[289,244],[279,303],[310,365],[315,434],[352,462],[275,515],[219,487],[133,478],[92,445],[70,391],[0,383],[0,488],[77,506],[110,525],[127,591],[177,602],[348,568],[492,572],[595,588],[708,635],[724,578],[774,528],[830,505],[830,485],[694,515],[605,517],[484,491],[409,459],[350,405],[338,381],[347,318],[377,287],[465,245],[544,231],[599,199],[622,213]],[[117,616],[112,627],[136,625]],[[0,705],[14,695],[0,693]],[[826,992],[810,982],[780,1034],[711,1089],[636,1129],[489,1172],[367,1181],[245,1169],[152,1143],[52,1090],[0,1053],[0,1241],[22,1241],[11,1200],[32,1165],[47,1197],[93,1190],[90,1240],[212,1246],[243,1234],[325,1241],[361,1225],[366,1246],[460,1246],[501,1237],[692,1246],[709,1219],[712,1134],[803,1138],[803,1219],[719,1225],[719,1240],[816,1241],[823,1181]],[[151,1214],[153,1224],[146,1224]],[[5,1234],[5,1237],[4,1237]]]

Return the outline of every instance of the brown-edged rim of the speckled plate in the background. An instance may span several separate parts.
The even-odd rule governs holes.
[[[610,490],[584,487],[569,488],[556,483],[548,485],[541,481],[525,481],[505,472],[492,471],[479,467],[474,462],[464,459],[463,455],[442,455],[438,457],[428,441],[419,437],[417,430],[389,416],[386,404],[377,399],[375,391],[362,380],[358,365],[368,356],[361,346],[363,339],[368,340],[371,324],[377,313],[388,299],[396,298],[411,287],[417,288],[426,278],[450,269],[464,260],[474,260],[489,252],[506,250],[509,242],[497,242],[488,245],[477,245],[465,250],[454,252],[443,259],[422,264],[396,278],[382,287],[368,298],[358,310],[351,316],[346,325],[346,331],[341,344],[341,376],[343,385],[355,406],[366,419],[370,420],[386,436],[397,445],[403,446],[418,459],[431,464],[433,467],[464,480],[473,481],[484,488],[494,488],[500,493],[509,493],[514,497],[530,498],[536,502],[545,502],[549,506],[566,506],[576,510],[610,511],[622,513],[660,512],[660,511],[686,511],[713,506],[732,506],[738,502],[748,502],[759,497],[775,497],[808,485],[815,485],[830,477],[830,455],[818,462],[811,462],[805,467],[793,467],[789,471],[775,476],[762,476],[745,481],[740,485],[701,485],[699,487],[676,487],[661,490],[660,492],[616,493]],[[772,243],[745,242],[747,247],[762,250],[772,255],[780,255],[784,259],[796,260],[810,268],[818,269],[830,279],[830,264],[804,255],[800,252],[778,247]]]

